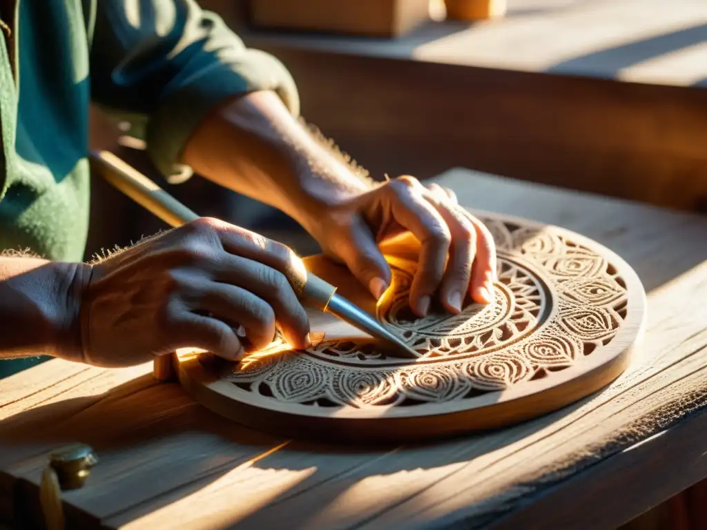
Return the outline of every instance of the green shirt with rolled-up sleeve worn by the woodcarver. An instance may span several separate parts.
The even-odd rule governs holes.
[[[276,90],[299,112],[284,66],[193,0],[0,0],[0,19],[1,250],[84,259],[91,102],[144,131],[165,177],[225,98]],[[0,377],[36,362],[1,361]]]

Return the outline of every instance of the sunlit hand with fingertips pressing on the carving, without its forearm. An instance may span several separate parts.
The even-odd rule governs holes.
[[[416,314],[427,314],[434,295],[453,313],[462,310],[467,293],[479,303],[493,300],[496,249],[491,233],[438,184],[423,186],[414,177],[398,177],[327,206],[317,220],[320,230],[312,235],[325,253],[344,261],[377,299],[391,281],[378,244],[409,230],[421,243],[410,293]]]

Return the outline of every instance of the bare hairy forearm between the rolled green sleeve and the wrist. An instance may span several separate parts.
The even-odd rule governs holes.
[[[375,186],[295,119],[274,93],[251,93],[194,131],[184,162],[307,225],[322,207]]]

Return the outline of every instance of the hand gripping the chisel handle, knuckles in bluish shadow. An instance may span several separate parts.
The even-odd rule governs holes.
[[[276,323],[293,348],[310,346],[292,286],[306,281],[303,262],[243,228],[201,218],[86,267],[84,363],[136,365],[184,347],[239,360],[271,343]]]

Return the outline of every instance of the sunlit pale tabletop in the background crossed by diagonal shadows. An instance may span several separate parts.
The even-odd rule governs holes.
[[[221,11],[222,2],[204,4]],[[394,40],[239,31],[256,47],[279,45],[667,86],[707,83],[707,4],[702,0],[507,3],[503,18],[474,24],[431,21]],[[228,11],[225,14],[228,18]]]

